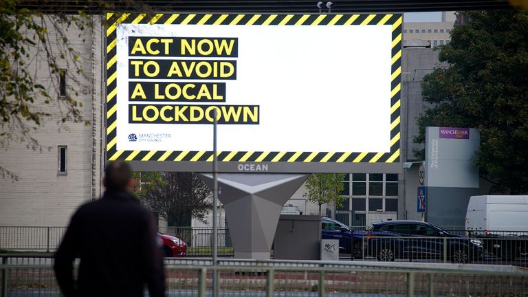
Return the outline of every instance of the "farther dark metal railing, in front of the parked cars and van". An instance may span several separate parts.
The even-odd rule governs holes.
[[[0,250],[53,252],[58,248],[65,230],[65,227],[0,226]],[[185,241],[187,256],[210,256],[212,253],[211,228],[168,227],[159,228],[159,232],[177,236]],[[352,252],[341,256],[345,259],[376,261],[382,259],[380,253],[384,250],[384,245],[388,245],[385,248],[391,249],[385,249],[384,252],[389,252],[388,259],[391,259],[390,252],[392,252],[395,261],[450,262],[454,261],[456,256],[456,250],[450,248],[452,245],[472,246],[471,239],[477,239],[483,243],[482,255],[476,257],[471,250],[462,250],[459,254],[463,259],[468,256],[468,260],[472,263],[528,267],[528,232],[493,231],[484,234],[474,230],[455,230],[450,231],[450,234],[469,237],[446,239],[434,236],[388,236],[384,239],[380,236],[360,235],[344,243],[352,247],[346,249]],[[448,241],[449,244],[444,241]],[[220,256],[233,256],[232,242],[227,228],[219,229],[217,242]],[[408,245],[411,247],[409,248]]]

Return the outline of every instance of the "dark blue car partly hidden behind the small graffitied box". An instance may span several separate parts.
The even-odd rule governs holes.
[[[362,257],[364,231],[351,230],[339,221],[323,217],[321,219],[322,239],[339,239],[339,253]]]

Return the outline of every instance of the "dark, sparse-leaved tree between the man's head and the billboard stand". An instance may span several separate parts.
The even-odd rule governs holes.
[[[143,174],[142,174],[143,175]],[[211,208],[211,192],[195,173],[147,173],[141,180],[140,199],[168,225],[183,226],[195,217],[203,222]]]

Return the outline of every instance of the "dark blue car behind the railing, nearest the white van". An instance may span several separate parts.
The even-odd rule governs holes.
[[[467,263],[483,255],[483,242],[451,234],[423,221],[373,223],[366,232],[366,255],[379,261],[450,259]]]

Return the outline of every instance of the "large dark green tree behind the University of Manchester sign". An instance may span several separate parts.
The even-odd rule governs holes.
[[[492,192],[528,191],[528,12],[463,12],[439,60],[450,64],[423,78],[423,100],[432,103],[417,120],[426,126],[469,126],[481,133],[474,164],[494,183]],[[423,159],[424,151],[415,155]]]

